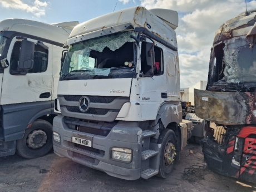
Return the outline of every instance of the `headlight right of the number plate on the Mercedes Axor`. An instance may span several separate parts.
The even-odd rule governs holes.
[[[111,148],[111,158],[114,160],[130,163],[132,160],[132,150],[120,147]]]

